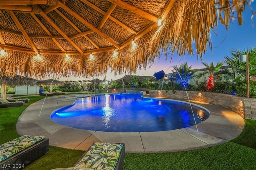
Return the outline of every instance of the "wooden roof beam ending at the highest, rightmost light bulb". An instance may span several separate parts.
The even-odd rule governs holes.
[[[120,7],[124,8],[124,9],[126,9],[126,10],[134,12],[135,14],[138,14],[139,16],[142,16],[142,17],[144,17],[144,18],[146,18],[146,19],[148,19],[148,20],[150,20],[152,22],[157,23],[158,20],[159,20],[156,16],[148,14],[147,12],[142,11],[142,10],[140,10],[140,9],[134,7],[134,6],[131,6],[131,5],[125,3],[125,2],[123,2],[121,0],[108,0],[108,1],[113,3],[113,4],[116,4],[116,5],[120,6]]]

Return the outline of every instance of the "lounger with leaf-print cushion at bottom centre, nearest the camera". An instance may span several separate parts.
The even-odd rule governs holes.
[[[122,170],[125,149],[123,143],[93,143],[73,167],[53,170]],[[99,160],[106,160],[99,163]]]

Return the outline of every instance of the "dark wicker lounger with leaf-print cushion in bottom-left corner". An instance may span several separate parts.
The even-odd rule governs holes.
[[[20,136],[0,145],[2,170],[23,169],[49,151],[49,139],[44,136]]]

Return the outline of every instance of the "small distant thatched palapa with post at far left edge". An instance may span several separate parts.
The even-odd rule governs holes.
[[[6,77],[5,75],[1,76],[0,85],[2,86],[2,98],[6,99],[6,85],[30,85],[33,86],[36,84],[36,79],[29,77],[23,77],[20,75],[14,75],[14,77]]]

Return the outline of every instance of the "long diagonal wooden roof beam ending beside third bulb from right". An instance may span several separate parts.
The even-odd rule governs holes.
[[[88,28],[90,28],[91,30],[93,30],[94,32],[96,32],[96,34],[100,35],[102,38],[104,38],[105,40],[107,40],[109,43],[111,43],[112,45],[114,45],[115,47],[117,47],[118,49],[120,49],[120,46],[115,43],[113,40],[111,40],[110,38],[108,38],[108,36],[106,36],[104,33],[102,33],[100,30],[98,30],[97,28],[95,28],[92,24],[90,24],[89,22],[87,22],[86,20],[84,20],[84,18],[82,18],[80,15],[76,14],[76,12],[74,12],[73,10],[71,10],[70,8],[68,8],[68,6],[62,4],[60,1],[58,2],[58,5],[64,9],[66,12],[68,12],[71,16],[74,16],[75,18],[77,18],[78,20],[80,20],[80,22],[82,22],[84,25],[86,25]]]

